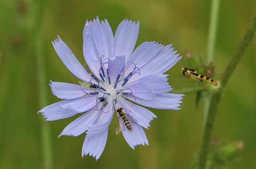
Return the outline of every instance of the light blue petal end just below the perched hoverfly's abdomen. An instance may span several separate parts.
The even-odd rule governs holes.
[[[142,129],[142,126],[139,124],[131,124],[132,131],[129,131],[127,128],[122,128],[122,134],[124,136],[124,139],[134,149],[134,146],[136,145],[148,145],[148,139],[146,137],[146,134],[144,130]]]

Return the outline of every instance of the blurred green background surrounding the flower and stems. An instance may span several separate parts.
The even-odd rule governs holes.
[[[58,135],[71,117],[44,122],[37,114],[39,106],[38,64],[36,51],[41,51],[46,69],[47,103],[60,101],[52,95],[48,83],[60,81],[78,84],[52,47],[60,35],[83,64],[82,31],[86,20],[106,18],[113,31],[128,18],[140,20],[136,47],[144,41],[173,43],[185,56],[193,51],[206,57],[210,18],[208,0],[0,0],[0,168],[44,168],[42,155],[42,123],[50,126],[54,169],[78,168],[172,168],[191,167],[202,137],[202,102],[195,106],[196,93],[186,94],[182,110],[150,109],[158,116],[145,130],[149,146],[131,149],[122,134],[116,136],[116,117],[110,124],[108,141],[98,161],[81,157],[85,134],[78,137]],[[39,6],[38,6],[39,3]],[[39,7],[39,8],[38,8]],[[40,10],[40,12],[38,12]],[[39,15],[38,15],[39,13]],[[250,20],[256,13],[255,0],[220,2],[214,65],[219,81],[238,47]],[[39,29],[40,28],[40,29]],[[39,35],[39,37],[38,37]],[[36,49],[36,43],[40,48]],[[246,50],[222,95],[213,138],[219,141],[243,141],[238,160],[227,164],[231,169],[256,166],[256,39]],[[175,90],[196,86],[185,79],[183,58],[167,73]],[[44,105],[44,106],[46,106]]]

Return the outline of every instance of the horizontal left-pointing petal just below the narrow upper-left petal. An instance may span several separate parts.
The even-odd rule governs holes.
[[[62,99],[78,98],[84,96],[84,92],[88,93],[88,90],[86,90],[86,88],[80,85],[52,81],[49,85],[52,88],[52,94]],[[92,90],[91,92],[93,92],[93,89],[90,90]]]

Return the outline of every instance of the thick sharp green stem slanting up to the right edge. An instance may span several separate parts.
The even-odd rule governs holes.
[[[234,72],[237,64],[239,63],[242,55],[244,54],[245,49],[248,47],[250,42],[252,41],[253,35],[256,31],[256,16],[253,18],[252,22],[250,23],[250,27],[247,30],[244,38],[242,39],[238,49],[236,50],[234,56],[231,58],[230,63],[226,67],[226,71],[222,75],[222,85],[220,87],[219,92],[215,92],[212,94],[210,107],[208,111],[208,116],[206,118],[205,128],[203,132],[203,140],[201,144],[199,159],[198,159],[198,167],[199,169],[205,169],[206,167],[206,160],[208,156],[208,150],[210,145],[210,138],[212,136],[213,124],[214,119],[218,110],[218,105],[220,102],[221,94],[223,88],[226,86],[230,76]]]

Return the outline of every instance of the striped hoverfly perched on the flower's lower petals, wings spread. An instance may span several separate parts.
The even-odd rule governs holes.
[[[129,130],[129,131],[132,131],[132,126],[130,124],[131,123],[137,123],[137,120],[130,116],[127,113],[123,112],[123,108],[120,107],[120,108],[117,108],[116,109],[116,112],[118,112],[119,116],[118,116],[118,120],[117,120],[117,123],[116,123],[116,135],[120,133],[122,127],[124,127],[124,125],[126,126],[126,128]]]

